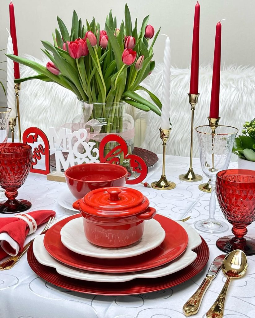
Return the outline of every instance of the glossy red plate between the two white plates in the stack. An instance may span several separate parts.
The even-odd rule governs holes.
[[[142,271],[166,264],[183,253],[188,244],[184,228],[163,215],[154,217],[166,232],[166,237],[154,250],[125,259],[97,259],[70,251],[61,242],[62,227],[80,214],[72,215],[54,224],[44,236],[44,246],[49,254],[58,261],[79,269],[103,273],[127,273]],[[81,220],[82,222],[82,220]]]

